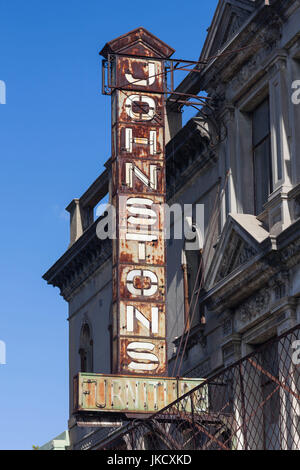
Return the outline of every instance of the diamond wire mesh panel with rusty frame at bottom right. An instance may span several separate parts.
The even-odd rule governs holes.
[[[300,449],[300,326],[98,448]]]

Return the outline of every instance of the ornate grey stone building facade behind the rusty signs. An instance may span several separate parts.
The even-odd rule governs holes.
[[[220,0],[199,64],[177,88],[186,96],[205,93],[207,105],[182,126],[180,100],[167,102],[168,203],[202,204],[205,211],[204,226],[194,227],[201,250],[186,250],[182,239],[168,242],[170,375],[180,357],[179,375],[210,377],[300,323],[297,80],[299,0]],[[69,305],[74,449],[126,422],[103,418],[99,428],[73,414],[74,376],[111,373],[112,247],[98,239],[94,218],[110,192],[110,172],[109,160],[67,207],[70,245],[44,275]]]

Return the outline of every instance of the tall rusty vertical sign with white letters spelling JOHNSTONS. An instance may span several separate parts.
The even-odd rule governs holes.
[[[105,45],[112,97],[113,373],[165,375],[164,60],[138,28]]]

